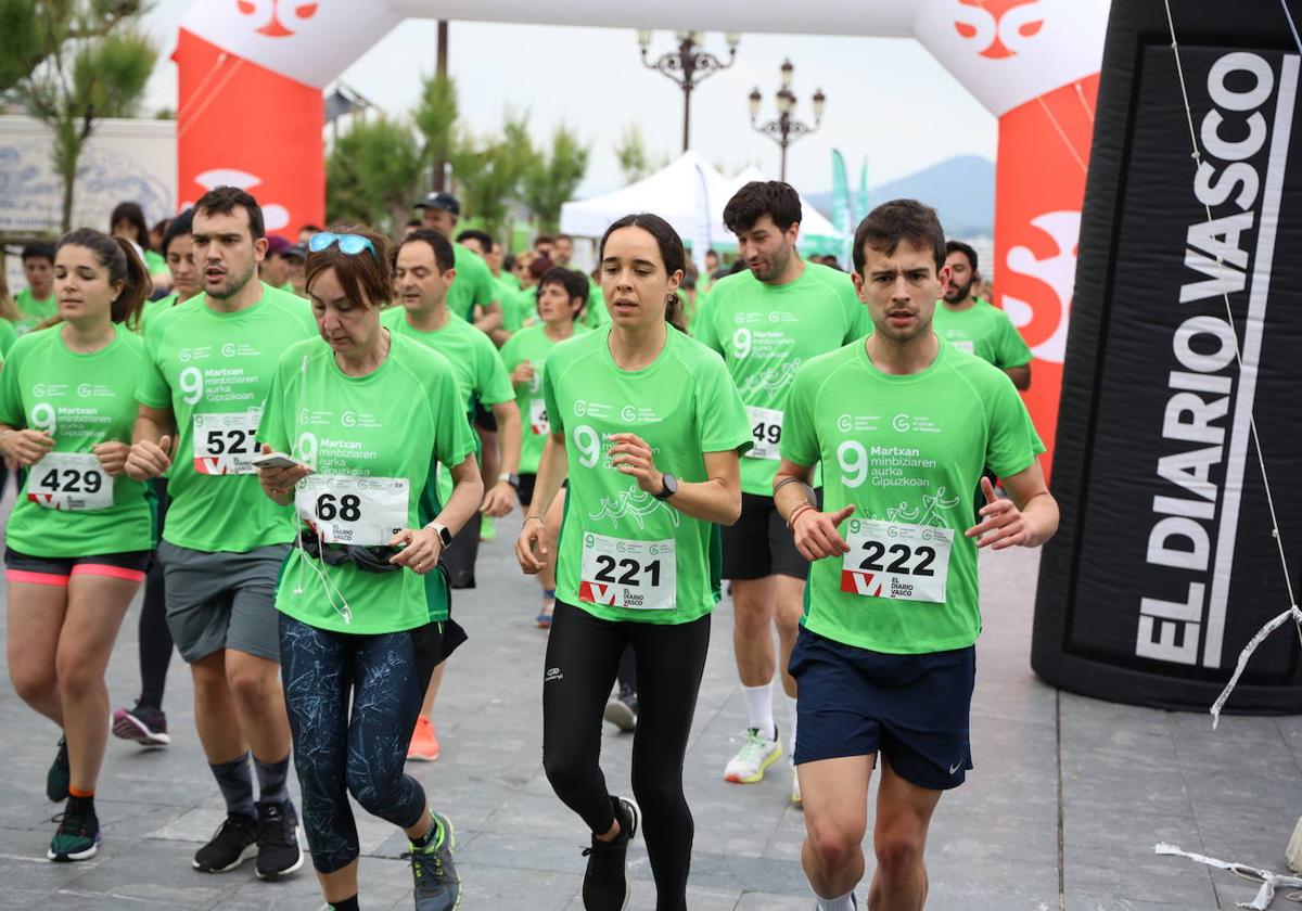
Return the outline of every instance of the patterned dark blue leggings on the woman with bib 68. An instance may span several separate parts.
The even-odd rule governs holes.
[[[280,666],[312,865],[333,873],[361,847],[348,803],[409,828],[424,790],[404,774],[408,743],[440,651],[440,629],[354,635],[280,614]],[[352,711],[349,707],[352,696]]]

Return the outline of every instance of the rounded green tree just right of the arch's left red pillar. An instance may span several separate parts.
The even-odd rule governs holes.
[[[411,128],[400,120],[354,121],[326,159],[326,213],[397,234],[421,193],[424,157]]]

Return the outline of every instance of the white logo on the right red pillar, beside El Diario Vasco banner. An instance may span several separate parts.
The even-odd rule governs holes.
[[[1077,242],[1081,236],[1081,212],[1064,210],[1046,212],[1030,221],[1042,237],[1047,236],[1053,246],[1049,256],[1036,256],[1026,246],[1016,246],[1008,251],[1004,263],[1019,276],[1034,279],[1039,285],[1052,292],[1036,294],[1030,303],[1005,293],[1004,310],[1013,325],[1022,331],[1022,337],[1030,345],[1031,353],[1040,360],[1062,363],[1066,353],[1066,327],[1072,315],[1072,289],[1075,285]],[[1047,315],[1048,307],[1056,312]]]

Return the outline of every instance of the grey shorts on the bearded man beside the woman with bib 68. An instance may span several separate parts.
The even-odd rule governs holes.
[[[289,544],[247,553],[191,551],[161,541],[167,626],[189,664],[234,648],[280,661],[276,583]]]

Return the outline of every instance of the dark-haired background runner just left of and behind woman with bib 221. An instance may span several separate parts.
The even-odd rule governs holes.
[[[503,363],[516,387],[516,405],[522,422],[527,420],[519,448],[519,505],[525,510],[534,500],[538,463],[551,436],[547,401],[543,398],[543,368],[557,342],[587,332],[586,327],[574,323],[583,311],[586,295],[587,277],[583,273],[560,267],[549,269],[538,284],[538,316],[542,323],[517,332],[501,349]],[[546,514],[546,506],[540,511]],[[548,560],[538,578],[543,586],[543,606],[536,621],[546,627],[551,626],[556,603],[555,562]]]

